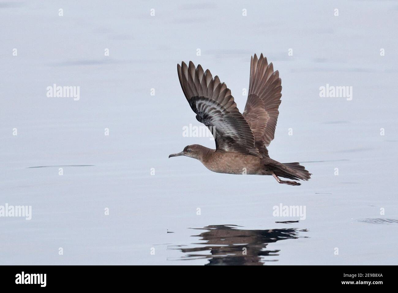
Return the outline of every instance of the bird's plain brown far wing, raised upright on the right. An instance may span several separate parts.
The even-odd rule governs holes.
[[[281,79],[274,72],[267,58],[254,54],[250,61],[250,84],[248,100],[243,117],[253,131],[256,147],[268,156],[267,148],[274,138],[276,122],[281,104]]]

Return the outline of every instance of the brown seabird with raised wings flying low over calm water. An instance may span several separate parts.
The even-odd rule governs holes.
[[[248,98],[240,113],[231,90],[209,69],[196,68],[192,61],[177,64],[182,91],[197,121],[206,125],[214,136],[216,148],[187,145],[169,158],[195,158],[217,173],[269,175],[280,184],[301,185],[290,180],[310,179],[311,173],[298,162],[280,163],[269,157],[267,147],[274,139],[281,104],[279,71],[261,53],[250,60]]]

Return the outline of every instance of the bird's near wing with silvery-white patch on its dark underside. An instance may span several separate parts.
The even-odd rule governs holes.
[[[182,91],[196,119],[209,127],[217,151],[241,152],[262,157],[254,146],[254,135],[234,102],[231,91],[218,76],[190,61],[177,65]]]

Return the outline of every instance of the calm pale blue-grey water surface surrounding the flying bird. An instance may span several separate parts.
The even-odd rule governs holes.
[[[32,209],[0,217],[0,264],[397,264],[397,18],[394,1],[0,2],[0,205]],[[209,68],[243,111],[254,53],[283,85],[269,154],[301,162],[301,186],[168,158],[215,147],[182,135],[201,124],[176,64]]]

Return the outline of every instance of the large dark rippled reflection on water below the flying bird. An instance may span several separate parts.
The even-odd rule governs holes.
[[[207,266],[214,265],[263,265],[267,256],[278,256],[280,250],[267,250],[268,243],[284,239],[307,238],[298,233],[305,229],[243,230],[237,225],[210,225],[199,235],[205,243],[194,248],[176,248],[185,253],[180,260],[209,259]],[[202,252],[202,253],[200,253]],[[204,254],[203,252],[207,252]],[[246,252],[246,254],[244,253]]]

